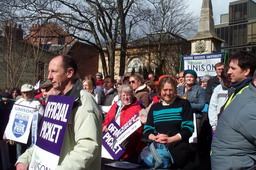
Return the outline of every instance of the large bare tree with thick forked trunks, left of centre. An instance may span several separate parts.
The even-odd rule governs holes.
[[[114,76],[115,51],[119,43],[120,74],[124,73],[127,35],[136,24],[135,15],[130,15],[129,11],[136,3],[135,0],[13,0],[10,5],[19,9],[19,19],[41,24],[54,20],[76,39],[96,47],[104,75]]]

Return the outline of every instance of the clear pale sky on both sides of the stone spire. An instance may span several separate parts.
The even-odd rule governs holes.
[[[212,0],[213,8],[213,18],[214,23],[218,24],[220,22],[220,14],[228,13],[228,6],[230,2],[236,0]],[[193,12],[194,16],[200,16],[201,6],[203,0],[188,0],[189,10]]]

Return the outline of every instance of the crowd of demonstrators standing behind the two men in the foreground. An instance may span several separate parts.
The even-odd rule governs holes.
[[[242,54],[239,54],[242,55]],[[234,67],[234,66],[233,66]],[[102,113],[102,131],[106,132],[111,120],[123,126],[134,115],[143,124],[124,143],[125,153],[120,161],[139,164],[140,154],[147,145],[143,139],[164,144],[171,153],[172,168],[211,169],[211,140],[216,132],[224,105],[232,94],[232,66],[220,62],[215,65],[216,76],[198,77],[194,70],[183,70],[177,75],[153,73],[148,77],[139,74],[119,76],[86,75],[82,78],[83,89],[90,93]],[[14,166],[17,158],[35,143],[32,134],[24,145],[5,139],[4,129],[14,103],[33,106],[40,110],[37,123],[43,115],[49,95],[58,95],[51,81],[41,83],[35,90],[24,84],[1,93],[1,166]],[[194,124],[195,122],[195,124]],[[195,128],[196,127],[196,128]],[[189,139],[196,129],[197,142]],[[112,162],[102,159],[104,163]]]

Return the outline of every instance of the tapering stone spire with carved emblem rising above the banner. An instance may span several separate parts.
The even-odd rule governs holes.
[[[191,54],[220,51],[220,45],[223,40],[215,34],[211,0],[203,0],[198,32],[189,41],[192,44]]]

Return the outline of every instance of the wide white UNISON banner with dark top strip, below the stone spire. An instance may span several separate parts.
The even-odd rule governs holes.
[[[212,53],[202,55],[183,56],[183,70],[194,70],[198,77],[206,74],[215,76],[214,65],[224,60],[224,53]]]

